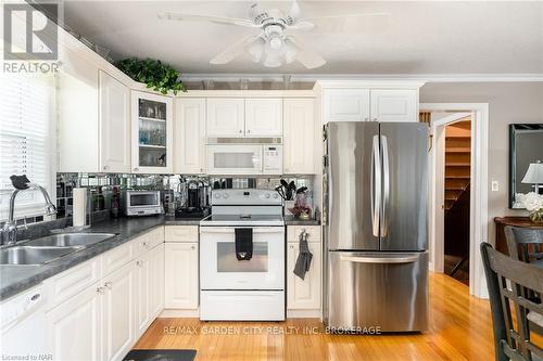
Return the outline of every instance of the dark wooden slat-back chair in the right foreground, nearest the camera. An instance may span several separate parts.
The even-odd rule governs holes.
[[[540,322],[539,318],[543,318],[543,305],[522,296],[523,288],[541,296],[543,269],[507,257],[488,243],[481,244],[481,256],[489,287],[496,360],[543,359],[543,349],[531,340],[536,332],[528,326],[529,320]]]

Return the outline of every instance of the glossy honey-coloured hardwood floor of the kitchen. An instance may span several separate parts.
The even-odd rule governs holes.
[[[317,319],[285,323],[157,319],[135,348],[195,349],[197,361],[494,359],[488,300],[470,297],[466,285],[443,274],[430,274],[430,327],[424,334],[329,335],[323,331]]]

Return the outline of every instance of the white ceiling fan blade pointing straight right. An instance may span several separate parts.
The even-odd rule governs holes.
[[[313,24],[318,33],[363,33],[381,31],[388,27],[390,14],[365,13],[304,17],[294,23],[289,29],[307,30],[308,24]],[[308,24],[307,24],[308,23]],[[301,26],[296,27],[298,24]]]

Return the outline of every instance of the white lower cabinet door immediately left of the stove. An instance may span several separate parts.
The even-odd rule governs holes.
[[[198,243],[165,244],[165,308],[198,308]]]

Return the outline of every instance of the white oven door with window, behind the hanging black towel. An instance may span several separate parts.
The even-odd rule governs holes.
[[[200,227],[202,289],[285,289],[285,228],[253,227],[253,257],[236,258],[235,227]]]

